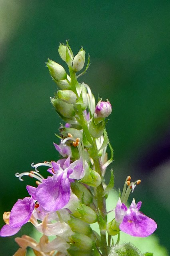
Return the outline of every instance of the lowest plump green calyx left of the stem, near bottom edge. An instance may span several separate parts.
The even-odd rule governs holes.
[[[93,240],[84,234],[72,235],[72,240],[75,242],[74,246],[80,248],[82,252],[90,252],[92,249]]]

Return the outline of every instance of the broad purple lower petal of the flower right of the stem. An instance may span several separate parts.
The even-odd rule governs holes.
[[[156,230],[157,224],[142,212],[128,210],[119,228],[131,236],[146,237]]]

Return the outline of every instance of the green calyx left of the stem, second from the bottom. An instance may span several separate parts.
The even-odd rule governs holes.
[[[87,236],[92,233],[92,229],[90,228],[88,223],[72,216],[70,220],[68,220],[68,225],[74,232],[78,232]]]

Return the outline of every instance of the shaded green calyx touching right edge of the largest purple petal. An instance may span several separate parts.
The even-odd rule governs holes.
[[[90,204],[92,202],[92,195],[82,183],[72,182],[71,188],[72,192],[78,197],[80,201],[83,200],[84,204]]]

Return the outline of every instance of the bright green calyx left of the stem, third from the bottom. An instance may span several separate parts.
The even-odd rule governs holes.
[[[82,204],[80,207],[78,207],[74,212],[73,215],[76,218],[80,218],[81,220],[84,220],[87,223],[95,223],[98,220],[98,216],[96,212],[89,206]]]

